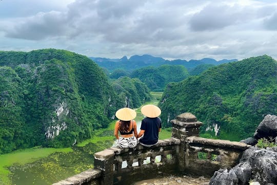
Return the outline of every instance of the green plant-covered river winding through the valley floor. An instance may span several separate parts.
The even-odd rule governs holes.
[[[151,92],[153,99],[146,104],[157,104],[162,92]],[[136,109],[137,122],[143,119],[140,108]],[[115,121],[107,128],[92,131],[92,138],[84,140],[71,148],[52,149],[34,147],[0,155],[0,183],[17,184],[24,179],[24,184],[51,184],[84,170],[93,168],[92,154],[110,147]],[[159,139],[171,137],[171,128],[163,128]],[[28,178],[26,178],[28,175]]]

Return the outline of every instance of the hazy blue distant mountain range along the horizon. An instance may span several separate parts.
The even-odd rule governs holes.
[[[220,61],[216,61],[210,58],[204,58],[201,60],[189,60],[189,61],[176,59],[176,60],[170,61],[170,60],[165,60],[161,57],[153,57],[152,55],[149,55],[149,54],[132,55],[132,57],[130,57],[129,59],[126,56],[124,56],[121,59],[94,58],[94,57],[90,57],[90,59],[92,59],[100,67],[106,68],[110,71],[113,71],[114,69],[134,70],[141,67],[161,66],[164,64],[183,65],[187,69],[191,69],[201,64],[220,65],[223,63],[238,61],[238,59],[231,59],[231,60],[223,59]]]

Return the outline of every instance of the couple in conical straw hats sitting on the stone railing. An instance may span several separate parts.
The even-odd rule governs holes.
[[[118,146],[122,148],[132,148],[140,142],[144,146],[153,146],[158,142],[159,132],[162,129],[162,121],[159,118],[161,109],[155,105],[145,105],[141,112],[146,118],[142,120],[141,131],[137,134],[135,120],[136,113],[131,108],[121,108],[117,110],[115,116],[119,119],[115,123],[114,136]],[[121,137],[118,136],[120,132]]]

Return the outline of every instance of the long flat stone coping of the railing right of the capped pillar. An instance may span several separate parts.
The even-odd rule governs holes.
[[[217,147],[229,147],[232,149],[240,149],[240,150],[246,150],[251,146],[237,141],[206,139],[206,138],[195,137],[195,136],[187,137],[185,141],[188,143],[199,143],[199,144],[212,145]]]

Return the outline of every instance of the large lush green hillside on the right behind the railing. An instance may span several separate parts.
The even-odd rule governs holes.
[[[159,103],[164,123],[191,112],[202,132],[239,140],[252,136],[267,114],[277,114],[277,62],[267,55],[212,67],[200,76],[170,83]],[[170,126],[170,123],[167,123]]]

